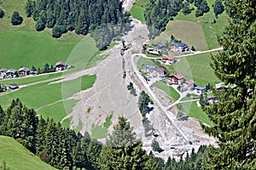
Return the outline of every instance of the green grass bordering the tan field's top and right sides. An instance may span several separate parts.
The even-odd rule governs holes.
[[[179,12],[173,20],[174,22],[175,20],[189,20],[201,24],[209,49],[218,47],[217,35],[223,33],[224,27],[227,26],[229,20],[229,16],[225,13],[218,15],[218,19],[215,19],[212,8],[212,4],[214,2],[215,0],[207,0],[210,12],[201,17],[195,17],[195,10],[193,10],[192,13],[188,15],[184,15],[182,12]],[[214,19],[217,21],[216,24],[212,24]],[[170,22],[170,24],[172,24],[172,21]],[[183,30],[181,30],[181,32],[183,32]],[[193,30],[193,32],[196,34],[197,30]],[[175,31],[173,32],[173,35],[175,36]],[[183,42],[186,42],[185,40],[186,39],[184,39]],[[198,41],[198,39],[195,39],[195,41]]]

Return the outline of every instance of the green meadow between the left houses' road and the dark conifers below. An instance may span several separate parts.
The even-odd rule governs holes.
[[[41,82],[0,96],[0,103],[6,109],[12,99],[20,98],[24,105],[38,109],[39,115],[44,118],[52,117],[55,122],[60,122],[64,116],[72,111],[77,102],[75,100],[62,101],[62,99],[67,99],[80,90],[91,88],[95,81],[96,76],[93,75],[62,83]],[[67,122],[65,123],[67,124]]]

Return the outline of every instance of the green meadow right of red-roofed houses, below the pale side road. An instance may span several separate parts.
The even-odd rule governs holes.
[[[196,54],[188,57],[179,58],[173,65],[177,73],[183,74],[186,79],[193,79],[198,86],[206,86],[208,82],[212,85],[220,82],[210,66],[211,54]]]

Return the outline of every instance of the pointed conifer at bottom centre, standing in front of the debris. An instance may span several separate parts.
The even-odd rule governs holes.
[[[142,150],[143,143],[137,141],[130,123],[124,117],[113,127],[99,158],[101,169],[143,169],[148,157]]]

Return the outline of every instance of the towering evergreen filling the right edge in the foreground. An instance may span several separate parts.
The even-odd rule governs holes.
[[[209,169],[256,167],[256,1],[227,0],[232,22],[218,37],[223,52],[212,56],[217,77],[229,85],[214,94],[218,103],[205,107],[215,123],[204,127],[219,141]]]

